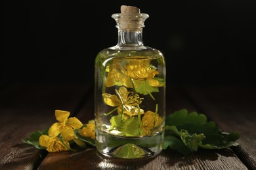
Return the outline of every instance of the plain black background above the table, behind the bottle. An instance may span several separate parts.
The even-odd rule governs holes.
[[[93,83],[121,5],[149,14],[143,42],[164,54],[168,82],[253,85],[255,0],[5,1],[1,82]]]

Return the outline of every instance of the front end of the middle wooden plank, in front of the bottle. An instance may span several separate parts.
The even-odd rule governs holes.
[[[50,153],[39,169],[247,169],[230,150],[200,150],[191,156],[182,156],[173,150],[163,150],[150,159],[121,160],[106,158],[95,148],[61,153]]]

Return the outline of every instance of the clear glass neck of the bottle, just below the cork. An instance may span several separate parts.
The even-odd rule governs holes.
[[[118,29],[117,46],[139,47],[143,46],[142,29],[140,31],[123,31]]]

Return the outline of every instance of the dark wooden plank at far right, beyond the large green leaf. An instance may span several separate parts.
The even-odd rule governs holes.
[[[198,108],[224,131],[240,133],[240,146],[232,149],[249,169],[256,169],[255,87],[203,86],[187,88],[187,92]]]

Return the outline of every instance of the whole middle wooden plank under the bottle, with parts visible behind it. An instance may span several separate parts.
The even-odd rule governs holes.
[[[81,122],[93,119],[93,94],[79,110],[77,118]],[[184,98],[179,88],[167,89],[167,114],[186,108],[196,110]],[[198,111],[198,110],[196,110]],[[139,160],[121,160],[118,158],[106,158],[91,147],[79,149],[76,152],[67,151],[49,153],[39,166],[41,169],[247,169],[244,163],[230,149],[226,150],[199,150],[190,155],[183,156],[174,150],[163,150],[156,158]]]

